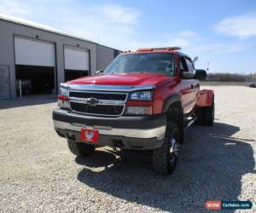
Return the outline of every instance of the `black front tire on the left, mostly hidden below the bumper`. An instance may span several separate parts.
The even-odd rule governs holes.
[[[76,142],[76,141],[67,141],[67,145],[71,153],[77,156],[87,156],[94,153],[95,147],[90,144]]]

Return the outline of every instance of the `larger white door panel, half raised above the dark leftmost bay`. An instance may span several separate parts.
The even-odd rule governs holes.
[[[55,44],[15,37],[15,64],[55,66]]]

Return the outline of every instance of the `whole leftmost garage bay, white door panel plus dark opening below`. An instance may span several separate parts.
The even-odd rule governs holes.
[[[55,43],[15,37],[17,95],[56,92]]]

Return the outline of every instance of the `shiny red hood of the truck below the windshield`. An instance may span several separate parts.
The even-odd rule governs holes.
[[[173,77],[165,77],[159,73],[112,73],[78,78],[67,84],[98,84],[98,85],[149,85],[172,81]]]

